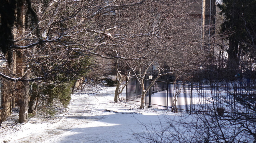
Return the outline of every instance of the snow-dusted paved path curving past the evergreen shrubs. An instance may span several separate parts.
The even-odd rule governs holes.
[[[101,96],[98,94],[96,96]],[[94,96],[81,97],[74,99],[72,104],[69,106],[70,110],[68,115],[66,115],[66,121],[58,123],[51,126],[48,125],[45,130],[38,130],[33,132],[24,138],[21,138],[14,142],[21,143],[43,143],[43,142],[54,142],[58,141],[60,136],[65,137],[65,134],[72,131],[72,129],[77,129],[81,124],[89,123],[90,120],[94,121],[97,118],[91,118],[90,113],[93,105],[97,101],[97,98]]]

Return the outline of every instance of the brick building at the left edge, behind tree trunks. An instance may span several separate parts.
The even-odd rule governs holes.
[[[25,23],[25,7],[22,6],[22,18],[23,19],[23,25]],[[20,35],[22,35],[25,32],[24,26],[13,28],[13,37],[14,39],[17,39]],[[25,43],[15,43],[16,45],[24,45]],[[6,62],[6,60],[0,59],[0,72],[9,75],[9,74],[17,74],[21,76],[23,72],[23,58],[17,55],[17,52],[9,51],[9,54],[2,53],[0,51],[1,56],[5,57],[5,59],[8,59],[7,55],[11,56],[11,63]],[[8,68],[7,68],[8,67]],[[18,83],[18,82],[17,82]],[[5,79],[0,79],[0,122],[3,122],[6,120],[6,118],[11,115],[12,108],[15,107],[15,99],[19,97],[17,94],[20,93],[19,86],[13,81],[8,81]],[[15,86],[15,90],[14,90]],[[18,90],[18,92],[16,92]],[[17,100],[16,100],[17,101]]]

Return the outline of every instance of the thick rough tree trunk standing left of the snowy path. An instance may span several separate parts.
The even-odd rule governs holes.
[[[29,73],[25,75],[25,78],[29,78]],[[27,123],[28,122],[28,102],[29,102],[29,82],[22,82],[24,88],[24,95],[19,100],[19,123]]]

